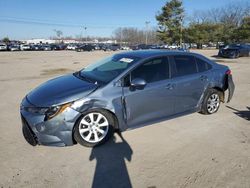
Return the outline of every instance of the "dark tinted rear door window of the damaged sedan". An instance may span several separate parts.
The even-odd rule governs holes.
[[[174,76],[185,76],[197,73],[195,58],[193,56],[174,56],[176,74]]]

